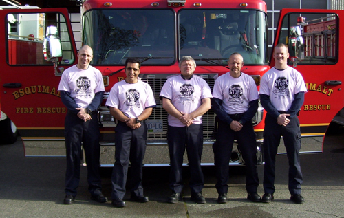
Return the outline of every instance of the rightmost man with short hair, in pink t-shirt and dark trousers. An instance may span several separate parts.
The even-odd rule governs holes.
[[[283,136],[289,160],[290,200],[303,204],[299,157],[301,131],[297,115],[307,88],[300,72],[287,65],[289,53],[286,45],[277,45],[273,56],[275,67],[262,76],[259,91],[261,105],[267,112],[264,127],[264,196],[261,201],[270,203],[274,199],[276,154]]]

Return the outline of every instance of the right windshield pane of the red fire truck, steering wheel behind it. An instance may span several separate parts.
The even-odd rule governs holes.
[[[268,63],[266,14],[257,10],[180,10],[180,57],[197,65],[227,65],[238,52],[245,65]]]

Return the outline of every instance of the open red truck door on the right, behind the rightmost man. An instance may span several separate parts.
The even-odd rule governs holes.
[[[301,72],[308,92],[299,120],[301,152],[322,151],[323,137],[332,118],[344,107],[343,10],[283,9],[274,47],[289,47],[288,65]],[[341,27],[341,28],[340,28]],[[343,40],[342,40],[343,41]],[[270,58],[271,67],[275,60]]]

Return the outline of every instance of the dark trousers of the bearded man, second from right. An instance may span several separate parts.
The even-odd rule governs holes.
[[[257,173],[257,144],[252,122],[246,122],[240,131],[233,131],[230,125],[219,120],[216,142],[213,144],[214,162],[216,168],[217,193],[227,194],[229,161],[233,149],[234,140],[238,142],[238,149],[245,161],[246,190],[248,193],[256,193],[259,185]]]

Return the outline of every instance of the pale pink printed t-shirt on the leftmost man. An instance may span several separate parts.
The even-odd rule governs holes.
[[[78,69],[74,65],[63,72],[58,91],[68,91],[78,107],[86,108],[95,93],[105,91],[102,74],[92,66]]]

